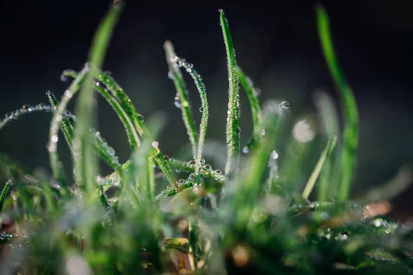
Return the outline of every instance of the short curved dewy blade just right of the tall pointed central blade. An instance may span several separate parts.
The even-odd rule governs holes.
[[[248,80],[248,77],[244,74],[244,72],[242,72],[240,67],[235,67],[235,74],[237,74],[238,78],[240,79],[240,83],[242,87],[244,87],[246,96],[248,96],[251,107],[251,115],[253,116],[253,135],[248,141],[248,144],[246,144],[246,146],[242,148],[242,152],[248,153],[248,151],[253,148],[255,137],[258,136],[258,133],[260,132],[261,107],[257,96],[255,96],[254,87],[251,83],[251,80]]]

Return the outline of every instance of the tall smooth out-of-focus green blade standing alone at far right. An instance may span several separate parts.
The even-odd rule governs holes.
[[[343,105],[344,131],[341,148],[341,181],[338,193],[338,199],[343,201],[346,200],[350,194],[351,182],[356,168],[359,115],[352,89],[344,78],[337,62],[335,50],[332,45],[327,12],[321,5],[317,6],[316,10],[319,39],[323,48],[324,57],[326,58],[330,74],[339,90],[341,103]]]

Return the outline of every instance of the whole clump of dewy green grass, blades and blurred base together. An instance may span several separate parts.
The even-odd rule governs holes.
[[[277,153],[284,147],[279,137],[286,131],[283,121],[289,104],[270,100],[261,107],[256,88],[237,65],[222,10],[229,69],[224,173],[203,158],[209,114],[205,85],[193,65],[176,55],[170,41],[164,45],[168,75],[176,87],[175,104],[182,111],[192,159],[163,155],[156,139],[165,118],[153,115],[144,120],[120,85],[101,69],[119,13],[120,3],[115,1],[96,32],[81,72],[63,72],[63,78],[74,79],[60,101],[47,92],[50,105],[25,105],[0,122],[2,129],[25,113],[53,115],[47,146],[51,179],[0,155],[0,175],[6,182],[0,197],[1,274],[388,274],[412,270],[413,227],[383,217],[390,208],[383,200],[406,187],[412,179],[410,169],[403,168],[394,181],[362,199],[348,199],[356,163],[357,106],[337,65],[323,8],[317,8],[317,26],[340,94],[344,131],[340,136],[334,107],[326,95],[320,95],[317,107],[326,127],[326,146],[303,186],[294,177],[301,162]],[[198,131],[181,69],[193,79],[202,101]],[[243,157],[239,83],[253,115],[253,133],[242,149]],[[72,115],[67,103],[78,91]],[[124,164],[93,128],[94,91],[107,100],[125,127],[131,157]],[[304,123],[308,131],[307,126]],[[73,179],[65,175],[59,161],[59,129],[72,151]],[[292,144],[297,148],[312,139],[296,138]],[[100,176],[98,157],[113,168],[112,174]],[[311,196],[315,186],[317,195]],[[316,200],[309,201],[312,197]]]

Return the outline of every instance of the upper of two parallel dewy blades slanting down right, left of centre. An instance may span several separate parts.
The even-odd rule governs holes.
[[[136,111],[134,105],[131,103],[130,98],[127,96],[127,94],[125,94],[125,91],[123,91],[118,83],[116,83],[114,78],[112,78],[108,74],[105,74],[104,72],[98,72],[95,77],[105,83],[112,96],[114,96],[114,98],[116,98],[116,100],[120,102],[120,107],[122,107],[129,118],[133,120],[135,129],[138,134],[141,137],[147,137],[153,141],[153,145],[155,146],[152,146],[153,148],[151,149],[152,156],[156,159],[156,162],[158,162],[160,170],[162,170],[162,173],[164,173],[166,179],[169,181],[169,184],[175,186],[175,188],[178,188],[178,184],[176,183],[176,178],[173,175],[171,167],[169,167],[164,155],[160,151],[160,148],[158,148],[158,142],[156,142],[156,140],[153,140],[153,137],[151,137],[151,133],[147,129],[143,116]]]

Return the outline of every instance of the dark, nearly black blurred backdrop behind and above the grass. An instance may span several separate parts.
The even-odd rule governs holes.
[[[0,113],[24,103],[58,98],[67,87],[63,69],[81,69],[98,22],[110,1],[2,1],[0,5]],[[271,3],[271,4],[270,4]],[[175,90],[167,78],[162,44],[171,39],[204,78],[210,105],[207,138],[224,141],[226,54],[218,9],[224,8],[240,67],[262,90],[261,100],[288,100],[290,117],[315,111],[312,96],[328,92],[337,102],[319,47],[315,1],[126,1],[109,46],[110,70],[142,115],[168,114],[160,137],[162,151],[174,155],[187,140]],[[343,71],[354,88],[360,115],[360,155],[354,195],[381,184],[404,163],[413,162],[413,1],[321,1],[330,14]],[[194,109],[198,94],[189,82]],[[75,101],[75,100],[73,100]],[[242,94],[242,106],[247,106]],[[70,105],[73,109],[73,105]],[[196,113],[199,121],[200,114]],[[242,137],[251,132],[248,108],[242,109]],[[31,167],[48,166],[45,144],[50,114],[25,116],[0,132],[0,150]],[[114,112],[99,99],[98,129],[125,161],[126,135]],[[319,152],[321,142],[313,142]],[[63,142],[63,159],[70,164]],[[317,153],[319,155],[319,153]],[[313,167],[317,155],[309,157]],[[281,161],[281,158],[280,158]],[[109,172],[104,168],[103,173]],[[395,201],[408,211],[413,192]]]

